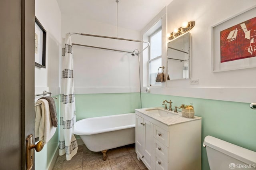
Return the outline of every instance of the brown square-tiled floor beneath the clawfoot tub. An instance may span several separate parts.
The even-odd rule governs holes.
[[[69,161],[66,156],[58,156],[53,170],[148,170],[137,159],[135,144],[110,149],[107,160],[102,160],[101,152],[92,152],[85,145],[78,146],[77,154]]]

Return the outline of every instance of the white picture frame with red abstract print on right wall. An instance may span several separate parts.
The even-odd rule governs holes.
[[[256,67],[255,21],[253,6],[211,27],[212,72]]]

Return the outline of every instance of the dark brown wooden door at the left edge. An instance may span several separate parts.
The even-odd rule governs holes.
[[[26,169],[26,137],[34,134],[34,0],[0,5],[0,166]]]

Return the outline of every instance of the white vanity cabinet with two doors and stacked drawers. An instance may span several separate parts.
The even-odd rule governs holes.
[[[135,113],[137,158],[149,170],[201,170],[202,118]]]

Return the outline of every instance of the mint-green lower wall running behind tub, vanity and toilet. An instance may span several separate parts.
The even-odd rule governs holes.
[[[250,103],[142,93],[142,108],[163,107],[164,100],[172,100],[172,109],[183,103],[193,103],[195,115],[202,117],[202,143],[205,136],[211,135],[256,152],[256,111],[250,109]],[[77,121],[89,117],[134,113],[137,108],[140,108],[140,93],[76,95]],[[202,170],[210,170],[206,149],[203,147]]]

